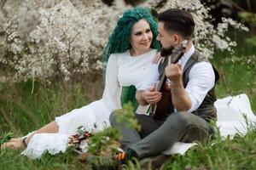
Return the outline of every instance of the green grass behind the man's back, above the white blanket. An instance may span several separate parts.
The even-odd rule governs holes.
[[[216,88],[217,97],[247,94],[253,112],[256,113],[256,63],[247,64],[247,59],[253,54],[256,54],[256,47],[240,42],[236,48],[236,56],[240,57],[240,61],[227,60],[230,54],[226,52],[216,53],[211,61],[220,74]]]

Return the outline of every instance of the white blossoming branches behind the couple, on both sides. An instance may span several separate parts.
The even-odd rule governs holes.
[[[158,14],[167,8],[189,10],[196,23],[195,46],[207,57],[212,57],[215,48],[232,53],[236,42],[225,35],[228,26],[247,30],[226,18],[214,28],[210,8],[200,0],[141,2]],[[101,69],[102,48],[119,15],[131,8],[124,1],[111,4],[100,0],[6,1],[0,14],[0,74],[14,81],[50,82],[58,77],[65,82]]]

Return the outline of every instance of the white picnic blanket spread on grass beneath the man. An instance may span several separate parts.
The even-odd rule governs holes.
[[[217,108],[218,117],[216,124],[223,139],[227,136],[230,136],[230,139],[232,139],[236,133],[244,135],[247,133],[248,126],[256,125],[256,116],[253,114],[247,94],[217,99],[214,105]],[[177,142],[172,148],[164,151],[163,154],[183,155],[194,145],[195,143]]]

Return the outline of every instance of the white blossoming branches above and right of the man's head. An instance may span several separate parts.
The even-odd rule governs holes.
[[[209,14],[210,8],[201,4],[199,0],[172,0],[167,1],[161,7],[158,7],[157,1],[149,0],[145,3],[147,7],[154,8],[158,13],[163,12],[168,8],[182,8],[188,10],[195,20],[195,46],[202,54],[211,58],[214,54],[214,49],[228,50],[233,53],[232,47],[236,46],[236,42],[227,37],[226,32],[229,26],[234,26],[237,29],[247,31],[247,27],[242,26],[235,20],[223,18],[222,23],[218,23],[217,28],[211,24],[212,16]]]

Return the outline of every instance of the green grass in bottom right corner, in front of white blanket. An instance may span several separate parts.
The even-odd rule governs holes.
[[[249,132],[244,138],[224,141],[216,140],[215,144],[199,144],[188,151],[185,156],[173,156],[166,162],[164,169],[255,169],[256,138],[255,132]]]

